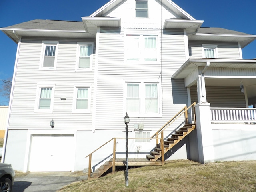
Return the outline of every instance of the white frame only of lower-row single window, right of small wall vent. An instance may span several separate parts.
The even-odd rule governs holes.
[[[88,107],[87,109],[76,109],[77,92],[79,88],[88,88]],[[73,113],[90,113],[91,107],[91,85],[90,84],[74,84],[73,94]]]

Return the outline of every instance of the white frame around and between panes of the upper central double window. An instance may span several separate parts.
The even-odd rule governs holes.
[[[138,37],[139,38],[139,47],[138,47],[138,60],[130,59],[130,51],[131,50],[131,43],[130,43],[130,36]],[[156,60],[145,60],[147,56],[147,50],[145,48],[145,37],[155,37],[156,38]],[[126,63],[152,63],[156,64],[159,62],[159,38],[157,34],[126,34],[126,42],[125,42],[125,62]]]

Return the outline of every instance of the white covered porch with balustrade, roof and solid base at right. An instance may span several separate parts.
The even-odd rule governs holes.
[[[197,102],[193,160],[256,160],[256,60],[190,58],[172,79]]]

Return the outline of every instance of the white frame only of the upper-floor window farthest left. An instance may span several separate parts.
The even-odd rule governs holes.
[[[44,54],[46,46],[56,46],[55,48],[55,56],[54,56],[54,66],[53,67],[44,67]],[[57,58],[58,58],[58,41],[42,41],[42,53],[41,53],[41,60],[40,60],[40,70],[56,70],[57,65]]]

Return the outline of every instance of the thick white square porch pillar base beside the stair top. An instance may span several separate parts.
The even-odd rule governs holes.
[[[195,108],[199,162],[214,162],[210,103],[198,103]]]

